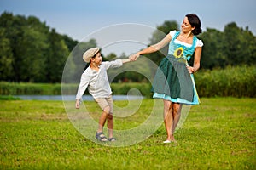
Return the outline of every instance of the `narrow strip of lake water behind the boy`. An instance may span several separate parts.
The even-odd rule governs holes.
[[[14,95],[14,97],[24,100],[75,100],[75,95]],[[143,96],[136,95],[113,95],[113,100],[133,100],[143,99]],[[90,95],[83,95],[83,100],[90,101],[93,98]]]

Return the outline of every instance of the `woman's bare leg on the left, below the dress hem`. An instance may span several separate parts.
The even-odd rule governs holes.
[[[172,102],[164,99],[164,122],[166,126],[167,139],[166,141],[171,141],[172,134]]]

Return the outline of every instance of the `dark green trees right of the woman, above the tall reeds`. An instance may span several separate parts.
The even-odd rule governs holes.
[[[231,22],[223,32],[207,28],[199,37],[204,42],[201,68],[256,65],[256,37],[248,28],[244,30]]]

